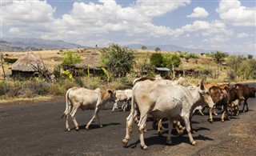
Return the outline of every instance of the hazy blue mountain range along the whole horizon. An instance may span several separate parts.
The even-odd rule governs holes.
[[[142,45],[142,44],[129,44],[123,45],[133,50],[141,50],[142,46],[146,46],[146,50],[155,50],[156,48],[160,48],[162,51],[182,51],[189,52],[195,54],[201,53],[211,53],[216,50],[203,50],[203,49],[192,49],[186,48],[182,46],[175,45]],[[40,38],[2,38],[0,40],[0,51],[28,51],[28,50],[66,50],[66,49],[75,49],[75,48],[91,48],[90,46],[81,46],[78,44],[64,42],[64,41],[53,41],[46,40]],[[244,55],[245,57],[248,55],[247,53],[242,52],[233,52],[229,53],[233,55]],[[256,54],[253,54],[254,58],[256,58]]]

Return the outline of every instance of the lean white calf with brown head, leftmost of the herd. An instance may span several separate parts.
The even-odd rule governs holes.
[[[102,109],[103,104],[108,101],[113,101],[113,90],[87,90],[82,87],[73,87],[66,91],[66,110],[62,114],[62,118],[66,117],[66,130],[70,131],[68,117],[71,116],[76,130],[79,130],[78,122],[74,115],[81,110],[94,110],[94,114],[90,122],[86,124],[86,130],[89,130],[90,123],[93,122],[95,116],[98,118],[98,112]],[[98,118],[98,125],[102,127]]]

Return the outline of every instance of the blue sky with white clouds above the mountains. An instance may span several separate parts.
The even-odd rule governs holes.
[[[0,0],[1,38],[256,55],[255,0]]]

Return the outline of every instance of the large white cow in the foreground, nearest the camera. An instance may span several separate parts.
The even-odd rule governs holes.
[[[150,80],[137,82],[133,87],[131,112],[126,118],[126,137],[122,140],[124,146],[129,142],[134,117],[137,115],[134,111],[135,103],[140,112],[138,131],[142,149],[147,148],[143,131],[146,127],[148,114],[154,118],[168,118],[169,132],[166,139],[168,144],[171,143],[172,121],[174,119],[184,120],[190,143],[194,145],[196,142],[190,133],[190,113],[196,106],[205,103],[210,108],[214,106],[209,91],[203,86],[202,81],[198,87],[191,87],[190,89],[181,85],[162,85]]]

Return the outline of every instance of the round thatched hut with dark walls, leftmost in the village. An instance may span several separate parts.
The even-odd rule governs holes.
[[[40,58],[28,52],[11,66],[12,76],[35,76],[39,70],[48,70]]]

